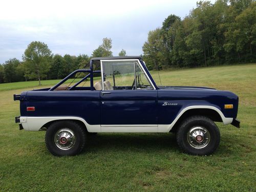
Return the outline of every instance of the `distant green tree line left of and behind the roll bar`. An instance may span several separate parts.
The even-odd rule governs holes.
[[[23,60],[9,59],[0,65],[0,83],[27,80],[61,79],[71,72],[82,69],[92,57],[109,57],[112,55],[112,39],[103,38],[102,45],[95,49],[92,56],[80,54],[78,56],[66,54],[53,55],[44,42],[31,42],[24,52]],[[119,56],[125,56],[121,50]]]

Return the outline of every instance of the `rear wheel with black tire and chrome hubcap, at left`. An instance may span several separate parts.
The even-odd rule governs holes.
[[[56,121],[48,127],[45,140],[52,155],[74,156],[83,150],[86,143],[86,131],[75,121]],[[62,141],[64,144],[61,143]]]

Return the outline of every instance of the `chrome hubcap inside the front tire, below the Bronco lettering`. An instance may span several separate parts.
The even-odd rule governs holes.
[[[210,133],[202,126],[192,127],[187,133],[187,142],[194,148],[204,148],[210,142]]]

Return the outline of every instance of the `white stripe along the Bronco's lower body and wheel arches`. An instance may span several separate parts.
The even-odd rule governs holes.
[[[233,118],[226,118],[223,113],[214,106],[208,106],[208,105],[194,105],[194,106],[188,106],[187,108],[183,109],[179,115],[175,118],[175,120],[171,124],[129,124],[129,125],[91,125],[86,122],[83,118],[80,117],[70,117],[70,116],[56,116],[56,117],[23,117],[21,116],[19,118],[20,123],[22,123],[22,126],[24,130],[26,131],[39,131],[44,124],[54,121],[54,120],[79,120],[84,123],[87,127],[88,132],[138,132],[138,133],[167,133],[169,132],[175,123],[178,121],[178,119],[181,117],[183,113],[185,113],[187,110],[190,109],[212,109],[219,113],[221,116],[221,119],[223,121],[223,124],[230,124],[233,121]]]

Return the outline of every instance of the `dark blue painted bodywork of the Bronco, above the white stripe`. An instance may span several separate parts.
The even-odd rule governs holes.
[[[77,87],[71,91],[54,90],[61,83],[77,72],[77,70],[60,81],[51,89],[40,89],[22,92],[25,98],[20,100],[22,116],[77,116],[89,124],[171,124],[177,115],[187,106],[215,106],[225,117],[236,118],[238,112],[238,96],[228,91],[217,91],[199,87],[162,87],[156,86],[141,59],[141,66],[153,82],[156,90],[108,90],[110,94],[102,94],[93,88],[93,72],[90,76],[91,87]],[[94,71],[94,73],[100,71]],[[85,80],[86,78],[83,78]],[[164,102],[170,105],[163,105]],[[173,103],[173,104],[172,104]],[[224,109],[224,104],[233,104],[234,109]],[[27,106],[35,106],[34,112],[27,112]]]

